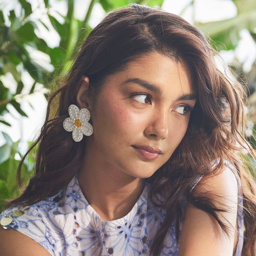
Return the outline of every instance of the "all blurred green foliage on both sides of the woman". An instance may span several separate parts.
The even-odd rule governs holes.
[[[5,120],[5,114],[9,112],[11,105],[20,115],[26,117],[27,114],[20,105],[21,99],[25,95],[35,93],[37,85],[41,84],[49,88],[55,77],[65,75],[69,70],[79,46],[92,29],[88,21],[96,3],[101,4],[105,12],[134,2],[158,7],[161,7],[163,3],[163,0],[88,0],[85,18],[79,20],[75,18],[75,0],[65,1],[67,4],[66,15],[61,15],[58,10],[53,10],[49,0],[37,0],[38,4],[35,10],[32,9],[29,0],[10,1],[20,5],[20,11],[17,11],[14,4],[12,10],[5,12],[4,4],[0,3],[0,122],[6,126],[11,126]],[[251,36],[256,40],[256,1],[233,0],[233,2],[238,10],[236,17],[207,24],[195,23],[195,26],[217,42],[218,50],[220,50],[219,47],[227,50],[235,49],[243,29],[248,29]],[[195,0],[191,0],[186,8],[194,4]],[[46,13],[48,22],[40,15],[33,15],[39,9]],[[50,30],[51,27],[56,30],[61,38],[58,47],[51,48],[44,39],[40,38],[38,34],[39,24],[42,24],[47,30]],[[220,45],[218,42],[222,44]],[[54,68],[53,71],[48,71],[41,66],[40,62],[33,57],[32,53],[35,51],[37,55],[44,53],[49,56],[50,64]],[[241,70],[241,65],[240,67],[233,67],[235,72],[239,69]],[[28,72],[34,80],[28,92],[24,90],[22,79],[24,71]],[[3,78],[7,75],[15,81],[15,92],[10,89],[8,84],[5,84],[6,80]],[[252,90],[254,91],[256,76],[249,73],[244,73],[244,76],[250,78],[248,83],[254,85]],[[0,147],[0,209],[3,206],[4,198],[15,197],[20,192],[16,186],[15,175],[19,163],[18,159],[21,157],[18,150],[19,141],[12,142],[8,134],[3,132],[2,134],[6,143]],[[254,143],[255,141],[252,141],[253,146]],[[28,157],[24,163],[24,183],[28,180],[33,169],[33,162],[33,158]]]

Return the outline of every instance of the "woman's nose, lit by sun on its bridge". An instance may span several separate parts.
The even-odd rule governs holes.
[[[144,134],[154,140],[165,139],[169,134],[167,113],[165,111],[156,111],[152,114]]]

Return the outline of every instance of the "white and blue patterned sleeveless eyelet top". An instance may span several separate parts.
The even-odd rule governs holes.
[[[152,205],[148,193],[149,184],[146,183],[126,216],[103,221],[85,199],[75,176],[57,195],[30,207],[6,209],[0,214],[0,224],[4,229],[14,229],[32,238],[52,256],[149,255],[150,244],[163,223],[165,211]],[[244,235],[240,195],[238,201],[239,235],[235,256],[241,256]],[[174,220],[160,255],[177,256],[178,250]]]

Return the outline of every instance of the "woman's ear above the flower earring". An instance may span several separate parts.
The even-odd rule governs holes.
[[[90,101],[88,96],[89,78],[85,75],[82,76],[77,87],[76,101],[80,109],[89,108]]]

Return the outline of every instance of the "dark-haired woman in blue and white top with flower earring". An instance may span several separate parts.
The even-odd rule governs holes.
[[[34,177],[0,216],[3,255],[255,255],[244,90],[213,54],[146,6],[98,24],[49,98]]]

